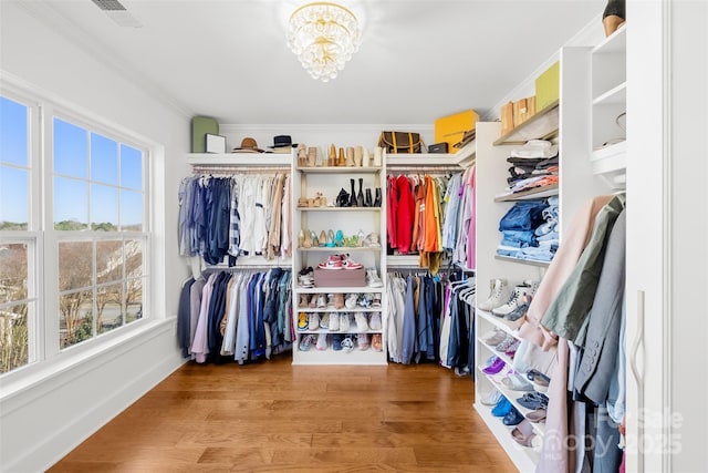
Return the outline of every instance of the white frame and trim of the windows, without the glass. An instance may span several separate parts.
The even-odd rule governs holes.
[[[35,311],[28,313],[29,359],[28,363],[6,373],[0,373],[0,383],[22,383],[35,379],[38,376],[54,372],[56,366],[64,366],[84,359],[86,356],[115,345],[126,337],[137,336],[143,327],[155,320],[152,305],[152,294],[156,284],[155,255],[153,254],[152,206],[159,202],[153,194],[153,156],[157,145],[147,138],[123,126],[111,123],[79,106],[34,91],[27,84],[17,85],[0,79],[0,94],[28,106],[28,168],[29,203],[28,230],[0,232],[0,241],[31,241],[33,251],[28,246],[28,298],[30,288],[35,290]],[[54,229],[53,223],[53,119],[67,121],[84,127],[90,133],[97,133],[119,145],[127,145],[138,150],[142,155],[142,230],[117,232],[67,232]],[[118,168],[119,172],[119,168]],[[91,176],[87,178],[91,182]],[[131,191],[136,191],[129,188]],[[91,202],[91,197],[88,197]],[[76,239],[92,241],[138,239],[143,241],[143,309],[142,318],[122,325],[107,332],[95,331],[90,339],[79,343],[60,348],[60,313],[59,313],[59,243]],[[95,245],[95,244],[94,244]],[[32,273],[32,276],[30,276]],[[92,275],[93,276],[93,275]],[[127,275],[123,274],[121,284],[125,285]],[[92,288],[100,286],[95,276],[92,277]],[[73,361],[72,361],[73,360]]]

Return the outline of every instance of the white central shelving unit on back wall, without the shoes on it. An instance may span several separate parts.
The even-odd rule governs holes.
[[[293,240],[294,246],[298,246],[298,235],[302,229],[304,232],[314,232],[319,237],[321,232],[325,235],[330,230],[336,236],[336,233],[341,230],[345,237],[356,235],[360,229],[364,236],[368,236],[372,233],[376,233],[379,236],[379,244],[385,245],[385,208],[381,207],[336,207],[336,196],[341,189],[351,193],[351,179],[354,182],[354,192],[357,194],[360,189],[360,179],[362,183],[363,192],[369,188],[372,192],[372,203],[376,198],[376,188],[381,189],[382,203],[385,202],[385,183],[382,182],[383,167],[344,167],[344,166],[313,166],[313,167],[295,167],[293,173]],[[383,186],[383,188],[382,188]],[[299,206],[298,200],[301,197],[314,198],[316,194],[321,194],[326,198],[326,205],[319,207]],[[384,282],[384,287],[372,288],[368,286],[351,287],[351,286],[334,286],[334,287],[312,287],[306,288],[299,285],[296,275],[308,267],[313,269],[317,265],[327,259],[330,255],[336,254],[350,254],[352,259],[361,263],[364,268],[375,268],[379,278]],[[323,269],[324,270],[324,269]],[[347,269],[330,269],[332,271],[332,278],[339,276],[340,271],[347,271]],[[385,284],[386,284],[386,260],[385,260],[385,247],[378,246],[316,246],[316,247],[293,247],[293,323],[295,323],[295,342],[293,342],[293,364],[386,364],[386,341],[384,335],[385,331]],[[334,309],[327,308],[310,308],[300,307],[301,295],[308,296],[308,298],[317,295],[324,295],[325,298],[330,294],[342,294],[346,298],[350,294],[361,296],[362,294],[371,294],[377,300],[381,301],[379,307],[355,307],[352,309],[342,308]],[[298,317],[299,313],[304,312],[306,315],[315,313],[319,317],[324,313],[330,316],[340,316],[343,313],[351,315],[350,330],[330,331],[327,329],[316,330],[299,330]],[[368,336],[368,348],[365,350],[358,349],[356,342],[354,349],[350,352],[344,350],[336,351],[333,349],[332,340],[336,336],[345,336],[347,333],[354,337],[360,333],[354,321],[354,315],[364,315],[367,319],[367,323],[371,322],[373,315],[378,313],[382,319],[382,328],[378,330],[372,330],[371,326],[361,333]],[[315,337],[327,337],[327,348],[325,350],[319,350],[315,343],[309,350],[300,349],[300,341],[308,335],[315,335]],[[382,337],[382,351],[374,350],[372,346],[372,337],[379,335]]]

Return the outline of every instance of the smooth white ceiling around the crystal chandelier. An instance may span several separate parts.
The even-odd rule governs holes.
[[[25,0],[27,1],[27,0]],[[329,83],[285,45],[306,0],[121,0],[142,28],[91,0],[35,10],[189,115],[223,124],[433,123],[490,111],[593,19],[605,0],[342,1],[362,20],[360,51]]]

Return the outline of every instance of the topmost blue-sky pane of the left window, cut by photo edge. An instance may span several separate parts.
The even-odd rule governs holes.
[[[28,107],[0,96],[0,162],[28,165]]]

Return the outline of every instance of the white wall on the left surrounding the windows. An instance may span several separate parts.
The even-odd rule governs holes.
[[[30,3],[30,2],[28,2]],[[188,271],[177,257],[177,191],[187,173],[189,117],[123,72],[49,28],[37,11],[0,2],[0,71],[133,131],[155,144],[152,173],[158,204],[153,216],[155,257],[149,304],[154,320],[111,347],[51,364],[32,382],[0,385],[0,470],[43,471],[178,368],[175,337],[178,291]],[[71,35],[71,32],[69,32]],[[164,182],[164,184],[163,184]],[[136,326],[139,322],[136,322]],[[64,357],[65,358],[65,357]],[[81,358],[81,359],[80,359]]]

